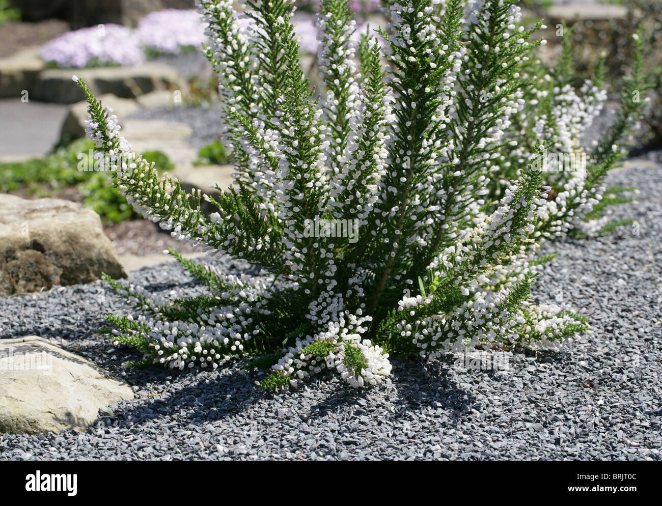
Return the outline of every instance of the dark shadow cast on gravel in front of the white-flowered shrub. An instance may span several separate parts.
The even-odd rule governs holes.
[[[332,386],[332,392],[328,392],[328,388],[324,388],[325,382],[332,378],[332,373],[320,375],[316,380],[319,384],[311,382],[308,388],[325,390],[326,397],[313,405],[307,413],[297,413],[295,416],[300,417],[301,421],[322,419],[347,407],[361,409],[367,403],[373,403],[376,396],[389,396],[391,409],[395,407],[395,411],[391,411],[392,414],[389,415],[393,419],[404,417],[408,412],[415,413],[423,407],[443,407],[451,413],[452,421],[470,411],[475,403],[475,398],[469,392],[459,388],[446,376],[445,368],[438,362],[426,363],[415,359],[395,359],[394,362],[397,367],[393,370],[390,389],[354,390],[344,382],[337,382]],[[191,372],[130,371],[125,379],[142,386],[143,396],[126,404],[111,417],[102,416],[101,419],[107,423],[117,420],[119,427],[134,430],[136,425],[139,427],[148,420],[158,418],[170,419],[173,422],[176,419],[177,425],[218,425],[218,422],[233,417],[256,403],[270,403],[274,417],[289,417],[289,413],[279,413],[279,407],[284,407],[280,398],[302,395],[297,390],[276,393],[260,391],[254,384],[255,374],[245,370],[232,370],[213,376],[198,373],[195,378],[191,376],[192,381],[189,384],[177,388],[177,380],[181,379],[181,374]],[[169,381],[173,382],[175,388],[166,384]],[[160,391],[149,392],[150,388],[154,387],[160,388]]]

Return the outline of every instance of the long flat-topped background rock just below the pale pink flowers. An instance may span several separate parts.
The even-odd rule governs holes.
[[[38,101],[59,104],[84,100],[83,91],[71,80],[73,75],[84,79],[97,97],[112,93],[122,99],[135,99],[155,90],[181,89],[177,70],[164,63],[148,62],[138,67],[47,69],[36,79],[32,96]]]

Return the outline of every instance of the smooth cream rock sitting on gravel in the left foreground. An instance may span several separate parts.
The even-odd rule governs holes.
[[[126,382],[37,336],[0,339],[0,433],[84,431]]]

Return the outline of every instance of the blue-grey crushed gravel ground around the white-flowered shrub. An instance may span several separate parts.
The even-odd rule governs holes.
[[[561,352],[509,353],[504,371],[466,369],[452,357],[393,359],[393,379],[381,388],[349,390],[322,376],[265,394],[241,368],[122,370],[132,355],[94,336],[105,312],[123,308],[101,282],[0,298],[0,337],[61,339],[136,391],[85,433],[3,435],[0,459],[660,460],[662,166],[638,159],[609,183],[641,189],[638,204],[612,210],[638,228],[551,245],[561,256],[534,286],[540,300],[573,301],[592,333]],[[200,290],[172,265],[131,278],[154,292]]]

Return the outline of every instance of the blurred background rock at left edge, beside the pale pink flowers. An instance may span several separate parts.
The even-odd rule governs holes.
[[[9,97],[30,99],[39,73],[44,69],[44,62],[39,58],[39,48],[26,48],[9,56],[0,58],[0,98]],[[25,97],[24,92],[28,92]]]

